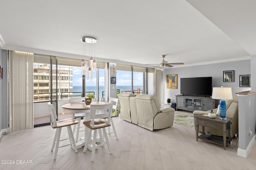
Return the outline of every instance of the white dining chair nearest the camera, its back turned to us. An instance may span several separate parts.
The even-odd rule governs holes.
[[[113,104],[91,105],[90,121],[83,122],[83,124],[90,129],[90,132],[88,133],[88,136],[86,139],[86,143],[84,145],[83,152],[86,152],[88,145],[90,144],[92,145],[92,157],[91,157],[92,162],[94,161],[94,158],[95,158],[95,149],[97,147],[102,147],[104,144],[107,144],[109,153],[112,154],[110,143],[108,141],[108,135],[105,129],[106,127],[110,126],[112,106]],[[108,119],[106,120],[105,117],[108,117]],[[101,129],[103,131],[104,139],[101,137]],[[100,134],[100,144],[99,143],[96,144],[97,130],[99,130],[99,134]],[[93,131],[93,139],[91,141],[92,131]]]

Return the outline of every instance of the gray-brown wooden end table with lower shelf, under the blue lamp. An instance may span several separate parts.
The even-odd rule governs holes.
[[[196,141],[198,141],[198,138],[199,138],[201,140],[208,141],[210,143],[223,145],[224,150],[226,150],[226,146],[227,146],[226,131],[228,130],[228,143],[230,143],[230,120],[232,120],[232,118],[227,117],[226,120],[221,120],[219,119],[219,117],[220,116],[217,115],[215,119],[212,119],[208,117],[208,115],[206,114],[194,115],[195,126],[196,126]],[[198,136],[198,125],[202,125],[203,132],[204,132],[204,126],[221,129],[223,131],[223,138],[219,136],[211,135],[211,139],[206,139],[205,133],[202,133],[202,135]]]

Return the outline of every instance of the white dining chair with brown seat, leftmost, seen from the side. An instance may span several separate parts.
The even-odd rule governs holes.
[[[78,150],[76,148],[76,142],[75,142],[75,139],[74,139],[74,136],[73,136],[73,133],[72,133],[71,125],[78,124],[78,121],[74,118],[62,119],[62,120],[57,121],[56,111],[55,111],[54,106],[51,104],[51,102],[48,102],[48,107],[49,107],[50,115],[51,115],[51,126],[52,126],[53,129],[56,129],[54,140],[53,140],[53,143],[52,143],[52,149],[51,149],[51,151],[53,151],[53,149],[55,147],[54,160],[56,160],[56,157],[57,157],[57,154],[58,154],[58,149],[60,147],[66,147],[68,145],[72,145],[73,149],[77,153]],[[62,127],[67,127],[67,129],[68,129],[68,137],[69,138],[67,138],[67,139],[69,139],[70,144],[62,145],[62,146],[59,147],[60,141],[67,140],[67,139],[60,140],[60,134],[61,134]]]

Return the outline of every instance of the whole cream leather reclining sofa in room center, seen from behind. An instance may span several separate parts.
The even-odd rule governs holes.
[[[156,96],[120,93],[120,117],[150,131],[171,127],[174,121],[174,108],[160,109]],[[129,114],[130,111],[130,114]]]

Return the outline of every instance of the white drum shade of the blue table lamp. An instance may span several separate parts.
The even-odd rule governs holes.
[[[214,87],[212,88],[212,98],[219,100],[232,100],[232,88],[231,87]]]

